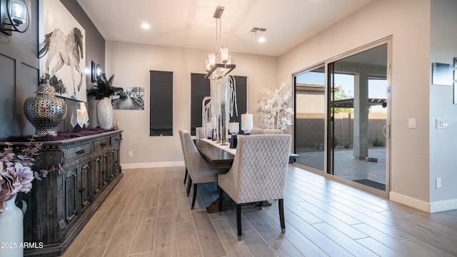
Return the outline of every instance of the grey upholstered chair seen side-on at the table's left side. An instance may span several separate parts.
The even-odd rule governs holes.
[[[208,183],[217,181],[217,176],[225,173],[226,169],[213,168],[211,163],[201,156],[197,150],[194,141],[192,140],[191,133],[187,131],[180,131],[182,136],[182,148],[184,154],[184,163],[186,163],[187,171],[189,171],[189,182],[187,187],[187,195],[189,196],[192,184],[194,184],[194,195],[192,196],[191,209],[194,209],[197,188],[199,183]],[[187,158],[187,161],[186,161]]]

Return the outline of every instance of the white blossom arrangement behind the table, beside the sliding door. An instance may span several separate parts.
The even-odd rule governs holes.
[[[283,82],[278,89],[261,89],[261,98],[257,101],[256,112],[259,114],[264,129],[286,129],[292,125],[293,109],[288,107],[291,97],[288,82]]]

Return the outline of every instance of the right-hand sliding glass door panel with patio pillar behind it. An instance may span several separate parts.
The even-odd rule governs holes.
[[[328,173],[386,191],[387,44],[328,67]]]

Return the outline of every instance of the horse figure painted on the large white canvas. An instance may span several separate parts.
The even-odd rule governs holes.
[[[68,35],[64,35],[60,29],[54,29],[49,34],[44,36],[43,47],[40,50],[40,57],[45,56],[47,59],[44,64],[44,73],[50,78],[56,76],[56,72],[62,66],[68,65],[71,67],[71,81],[73,82],[73,94],[76,99],[76,83],[77,89],[81,91],[83,81],[83,71],[79,67],[79,61],[84,58],[83,52],[83,35],[78,28],[73,28]],[[51,62],[56,59],[54,66],[49,73]],[[79,82],[75,81],[75,71],[79,74]],[[73,97],[72,97],[73,98]]]

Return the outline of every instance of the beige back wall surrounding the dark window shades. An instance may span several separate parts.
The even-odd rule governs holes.
[[[114,121],[124,129],[121,163],[124,168],[184,166],[179,129],[190,130],[191,73],[204,73],[209,52],[166,46],[106,42],[106,74],[116,86],[142,86],[145,110],[115,110]],[[248,110],[253,113],[262,87],[278,86],[277,58],[231,53],[233,75],[248,76]],[[174,136],[149,136],[149,70],[174,72]],[[254,124],[258,126],[258,124]],[[129,158],[128,151],[134,156]]]

